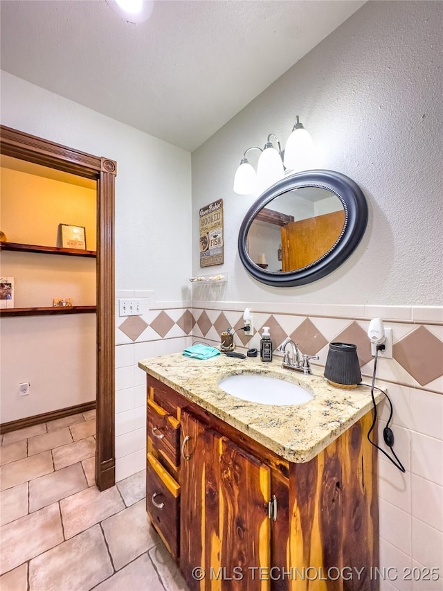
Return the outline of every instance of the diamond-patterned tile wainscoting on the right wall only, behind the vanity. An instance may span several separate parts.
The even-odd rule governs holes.
[[[386,569],[381,588],[442,591],[443,307],[195,301],[192,339],[219,344],[222,330],[242,326],[246,306],[258,332],[249,339],[236,333],[238,351],[259,347],[263,326],[271,328],[274,347],[290,336],[303,353],[319,355],[320,366],[329,342],[352,342],[364,383],[370,383],[374,367],[366,334],[370,320],[381,317],[392,328],[393,358],[379,358],[377,379],[394,405],[395,452],[406,473],[379,454],[380,564]],[[380,431],[388,416],[382,403]],[[439,569],[440,579],[426,581],[426,568]]]

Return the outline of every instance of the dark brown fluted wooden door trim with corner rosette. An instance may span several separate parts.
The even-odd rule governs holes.
[[[115,484],[114,197],[116,161],[0,125],[0,153],[97,182],[96,484]]]

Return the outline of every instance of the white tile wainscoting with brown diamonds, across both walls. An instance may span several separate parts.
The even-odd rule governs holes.
[[[370,320],[382,317],[392,328],[393,358],[379,358],[377,378],[394,404],[395,450],[406,473],[380,454],[383,585],[386,591],[442,590],[443,579],[424,580],[424,569],[443,573],[443,307],[194,301],[146,306],[141,317],[129,317],[136,321],[116,317],[116,480],[145,464],[145,373],[138,360],[179,352],[195,341],[217,345],[228,326],[242,326],[246,306],[257,333],[246,339],[237,332],[237,350],[258,347],[263,326],[271,328],[275,347],[290,336],[303,353],[319,355],[320,366],[329,342],[352,342],[365,383],[374,364],[366,335]],[[381,429],[388,416],[383,403]],[[419,580],[406,580],[404,569],[415,569]]]

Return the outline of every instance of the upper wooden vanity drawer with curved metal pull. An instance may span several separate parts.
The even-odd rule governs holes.
[[[147,436],[174,468],[180,464],[180,423],[154,400],[147,400]]]

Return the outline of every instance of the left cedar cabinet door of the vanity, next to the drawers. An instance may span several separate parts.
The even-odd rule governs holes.
[[[220,567],[219,436],[183,412],[181,441],[181,572],[192,591],[220,589],[220,581],[211,580]],[[192,576],[196,567],[206,572],[201,581]]]

